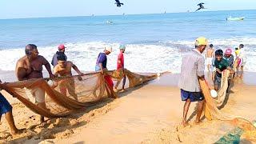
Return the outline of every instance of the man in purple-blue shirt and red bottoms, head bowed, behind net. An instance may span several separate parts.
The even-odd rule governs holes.
[[[106,74],[107,55],[109,55],[111,52],[112,52],[112,47],[106,46],[104,52],[98,54],[95,71],[101,72],[101,74],[104,76],[105,81],[106,81],[107,85],[109,86],[110,90],[113,90],[114,83],[112,81],[112,78],[110,77],[110,75]],[[117,98],[116,95],[114,95],[113,97]]]

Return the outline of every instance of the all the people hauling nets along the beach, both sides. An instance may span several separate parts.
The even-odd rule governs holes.
[[[214,81],[214,90],[219,90],[221,86],[222,72],[224,70],[230,70],[230,78],[233,75],[242,75],[243,67],[246,64],[246,57],[243,51],[244,45],[238,46],[235,49],[235,57],[232,54],[232,49],[228,48],[225,53],[222,50],[214,50],[214,46],[210,44],[208,47],[208,41],[206,38],[198,38],[195,42],[195,49],[190,51],[182,58],[181,75],[178,82],[178,87],[181,89],[182,101],[185,101],[182,125],[188,125],[186,115],[188,113],[190,102],[198,102],[198,114],[195,122],[200,122],[202,110],[205,102],[205,98],[201,92],[198,78],[205,79],[205,63],[207,70],[212,73]],[[207,49],[207,50],[206,50]],[[25,56],[20,58],[16,64],[15,74],[18,81],[26,81],[34,78],[43,78],[42,66],[46,67],[50,78],[72,76],[72,69],[77,72],[78,79],[83,73],[74,65],[73,62],[68,61],[68,57],[65,54],[66,46],[58,46],[58,51],[54,54],[51,64],[54,67],[53,72],[51,70],[50,62],[46,58],[42,57],[38,53],[38,47],[34,44],[28,44],[25,48]],[[122,74],[122,79],[118,80],[114,86],[110,75],[107,71],[107,55],[112,52],[111,46],[106,46],[104,51],[98,54],[98,58],[95,63],[95,71],[101,73],[107,85],[114,91],[118,90],[118,86],[122,82],[121,91],[125,90],[126,85],[126,73],[124,65],[124,53],[126,50],[125,45],[119,46],[120,53],[118,54],[117,70]],[[206,56],[203,57],[202,53],[206,50]],[[213,68],[214,67],[214,68]],[[239,72],[240,71],[240,72]],[[78,100],[78,96],[75,94],[75,82],[74,79],[70,79],[70,86],[66,86],[66,82],[54,82],[52,88],[59,87],[60,92],[66,95],[68,92],[75,100]],[[26,94],[33,97],[33,102],[42,109],[46,108],[45,91],[40,87],[25,88]],[[14,124],[14,117],[12,114],[12,106],[6,100],[6,98],[0,93],[0,118],[2,114],[5,114],[6,121],[10,126],[11,134],[19,134],[22,130]],[[43,116],[40,116],[40,122],[44,122]],[[1,119],[0,119],[1,120]]]

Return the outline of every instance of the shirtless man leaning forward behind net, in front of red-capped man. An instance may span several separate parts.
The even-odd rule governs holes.
[[[75,66],[72,62],[66,61],[66,56],[64,54],[60,54],[57,57],[58,64],[54,67],[54,75],[55,76],[72,76],[71,69],[73,68],[79,75],[83,75],[80,70],[78,70],[78,67]],[[78,79],[81,81],[82,78],[78,77]],[[77,94],[75,94],[75,86],[74,86],[74,78],[64,78],[59,82],[56,82],[56,84],[59,84],[59,89],[62,94],[66,95],[66,89],[69,91],[69,94],[74,97],[75,100],[78,100]]]

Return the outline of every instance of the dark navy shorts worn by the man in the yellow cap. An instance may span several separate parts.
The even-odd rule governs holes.
[[[200,102],[205,99],[202,92],[189,92],[181,89],[182,101],[190,99],[191,102]]]

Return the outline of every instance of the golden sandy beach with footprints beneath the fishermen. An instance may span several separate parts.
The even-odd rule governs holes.
[[[244,78],[250,77],[246,74]],[[203,119],[194,125],[194,107],[190,107],[190,126],[180,126],[183,102],[177,85],[178,74],[166,74],[143,86],[111,98],[98,106],[72,114],[69,118],[53,118],[38,125],[39,117],[24,105],[6,96],[14,107],[21,135],[11,136],[5,118],[0,126],[0,142],[26,143],[213,143],[235,127],[228,122]],[[223,113],[255,120],[256,86],[235,79],[227,95]],[[5,94],[5,93],[3,93]],[[5,94],[7,95],[7,94]]]

